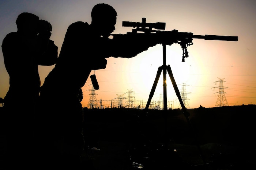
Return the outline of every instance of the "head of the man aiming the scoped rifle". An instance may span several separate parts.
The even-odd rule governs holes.
[[[91,25],[103,37],[108,37],[116,28],[116,10],[108,4],[97,4],[91,11]]]

